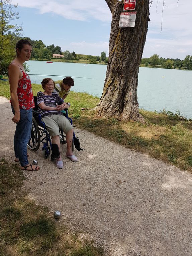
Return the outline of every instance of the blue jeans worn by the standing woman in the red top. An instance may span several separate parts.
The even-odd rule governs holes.
[[[15,114],[12,105],[11,108],[13,114]],[[31,138],[32,110],[32,108],[28,110],[20,109],[20,120],[16,123],[14,151],[15,157],[19,158],[21,166],[26,166],[29,163],[27,159],[27,143]]]

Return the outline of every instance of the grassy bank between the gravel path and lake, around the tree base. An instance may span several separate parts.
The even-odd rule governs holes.
[[[0,81],[0,85],[0,95],[9,97],[8,83]],[[40,85],[32,87],[34,95],[41,90]],[[97,105],[99,98],[87,93],[72,91],[67,101],[71,103],[69,115],[81,129],[192,171],[192,120],[180,116],[179,112],[157,113],[140,109],[146,120],[145,124],[141,124],[98,118],[96,112],[90,109]]]

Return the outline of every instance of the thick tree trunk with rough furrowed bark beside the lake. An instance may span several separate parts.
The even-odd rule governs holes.
[[[98,115],[142,121],[136,91],[139,64],[148,30],[149,0],[136,1],[135,27],[125,28],[118,27],[124,1],[105,1],[111,10],[112,22],[109,60]]]

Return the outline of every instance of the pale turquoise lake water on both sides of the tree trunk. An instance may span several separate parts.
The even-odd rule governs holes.
[[[75,81],[73,91],[98,97],[102,94],[107,65],[45,61],[28,61],[27,65],[29,74],[33,74],[30,75],[32,83],[40,84],[45,77],[61,80],[71,76]],[[192,71],[140,67],[137,96],[139,108],[158,112],[166,109],[174,113],[178,109],[192,118]]]

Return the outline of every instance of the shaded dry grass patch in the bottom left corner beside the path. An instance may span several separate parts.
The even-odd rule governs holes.
[[[37,206],[21,191],[24,176],[18,165],[0,160],[0,255],[98,256],[101,249],[80,242],[77,235]]]

